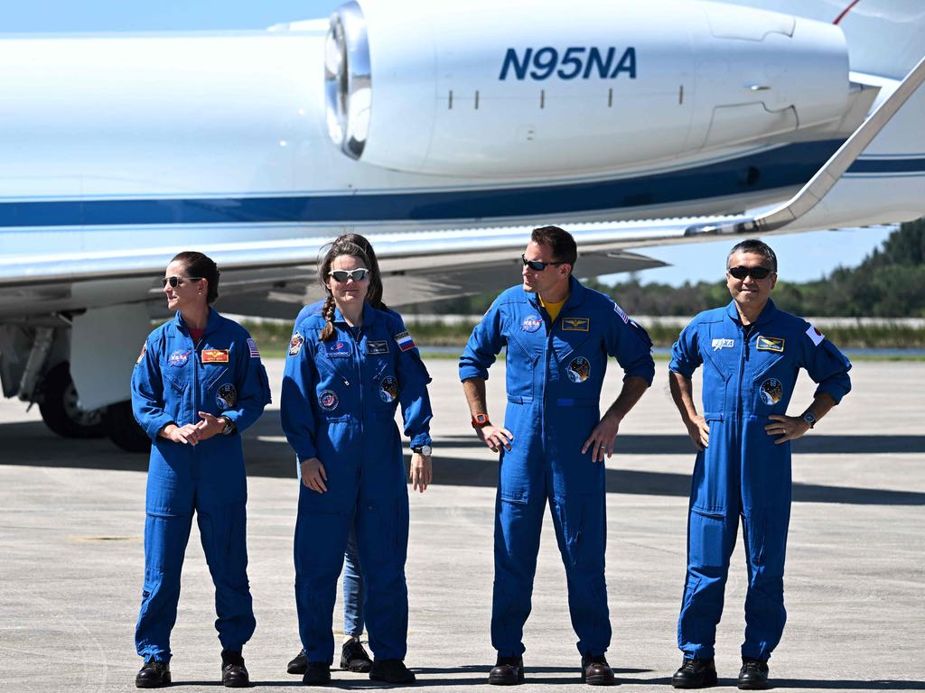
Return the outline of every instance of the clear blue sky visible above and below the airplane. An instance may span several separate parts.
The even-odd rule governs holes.
[[[31,0],[0,4],[0,35],[22,32],[95,32],[264,29],[281,22],[327,17],[339,0]],[[883,229],[820,231],[772,237],[780,274],[788,281],[818,279],[853,266],[889,235]],[[729,240],[639,251],[672,267],[640,273],[644,282],[683,284],[722,276]]]

